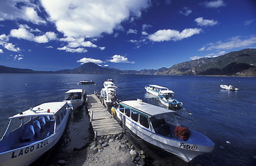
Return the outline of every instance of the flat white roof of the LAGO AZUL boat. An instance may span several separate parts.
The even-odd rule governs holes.
[[[22,118],[26,116],[54,116],[59,110],[64,107],[67,107],[67,102],[46,102],[36,107],[33,107],[32,109],[23,111],[22,114],[18,113],[15,116],[11,116],[8,119]],[[47,112],[48,109],[50,109],[49,113]]]

